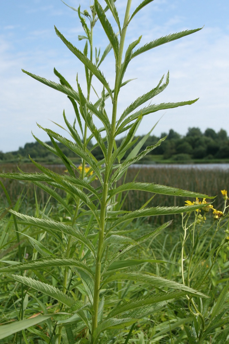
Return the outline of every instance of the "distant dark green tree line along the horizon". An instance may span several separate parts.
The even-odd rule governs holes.
[[[229,139],[227,132],[224,129],[220,129],[219,132],[215,132],[214,129],[206,129],[204,133],[199,128],[188,128],[185,136],[181,136],[179,133],[170,129],[169,133],[163,132],[160,137],[151,135],[145,141],[141,150],[144,150],[147,146],[156,144],[158,140],[164,136],[167,139],[161,143],[159,147],[151,151],[151,155],[162,155],[163,159],[173,160],[188,160],[188,159],[227,159],[229,158]],[[143,136],[139,136],[137,142],[141,140]],[[121,144],[122,138],[116,140],[117,147]],[[137,142],[132,146],[134,147]],[[51,142],[46,142],[52,146]],[[58,143],[61,150],[69,157],[76,157],[76,154],[66,148],[63,144]],[[100,147],[94,147],[93,143],[89,142],[88,149],[92,149],[92,153],[96,159],[103,158]],[[129,151],[126,152],[127,157]],[[54,161],[55,155],[48,151],[38,142],[26,143],[25,146],[19,147],[18,151],[3,153],[0,151],[0,161],[18,161],[28,158],[28,155],[33,159]]]

